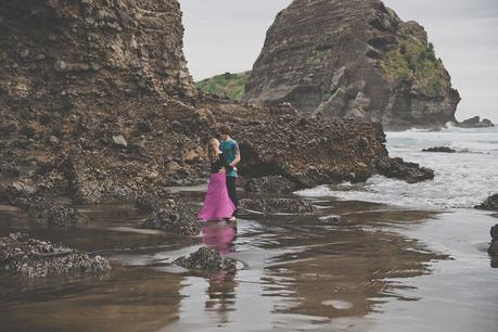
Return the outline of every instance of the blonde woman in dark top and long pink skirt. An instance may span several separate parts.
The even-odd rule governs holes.
[[[207,152],[210,162],[209,184],[204,199],[204,206],[199,213],[199,218],[201,221],[216,221],[221,219],[234,221],[232,215],[235,206],[228,196],[226,177],[227,170],[231,170],[233,167],[227,163],[224,153],[219,150],[219,141],[217,139],[209,141]]]

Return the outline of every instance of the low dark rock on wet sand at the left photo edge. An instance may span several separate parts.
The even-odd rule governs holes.
[[[111,265],[101,256],[54,245],[27,234],[0,238],[0,270],[21,278],[48,278],[79,273],[102,273]]]

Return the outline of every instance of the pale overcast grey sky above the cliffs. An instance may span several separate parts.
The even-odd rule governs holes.
[[[179,0],[195,80],[252,68],[266,30],[291,0]],[[384,0],[425,27],[462,101],[457,118],[498,123],[498,0]]]

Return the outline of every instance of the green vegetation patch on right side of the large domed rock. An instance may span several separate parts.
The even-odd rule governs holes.
[[[435,56],[434,46],[412,36],[401,36],[398,47],[384,54],[382,69],[393,81],[414,81],[431,95],[445,93],[448,88],[447,74]]]

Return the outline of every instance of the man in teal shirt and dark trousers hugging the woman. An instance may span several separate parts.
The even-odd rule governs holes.
[[[219,136],[221,139],[219,150],[224,152],[227,163],[229,163],[231,167],[235,167],[241,162],[241,152],[239,150],[239,144],[234,139],[230,137],[230,135],[231,129],[228,126],[221,126],[221,128],[219,128]],[[238,175],[235,168],[227,171],[228,195],[233,202],[233,205],[235,205],[235,212],[233,213],[233,216],[230,220],[235,220],[237,212],[239,208],[239,201],[237,199],[235,189],[237,178]]]

